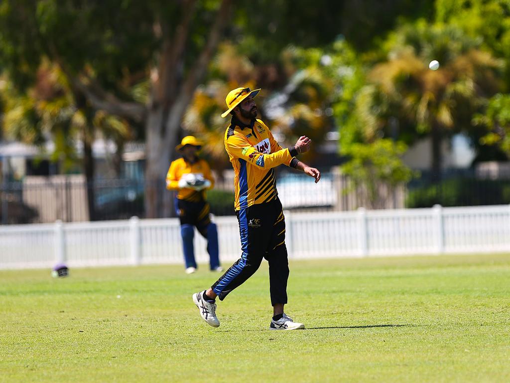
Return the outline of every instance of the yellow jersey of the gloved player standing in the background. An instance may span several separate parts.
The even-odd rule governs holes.
[[[170,164],[166,175],[166,188],[169,190],[179,190],[179,192],[177,192],[177,198],[180,200],[190,202],[204,201],[206,199],[206,189],[197,191],[188,187],[179,188],[179,180],[184,174],[188,173],[201,175],[203,178],[211,181],[211,186],[207,189],[212,189],[214,187],[214,178],[211,174],[211,168],[205,160],[198,159],[196,162],[191,163],[184,158],[179,158],[172,161]]]

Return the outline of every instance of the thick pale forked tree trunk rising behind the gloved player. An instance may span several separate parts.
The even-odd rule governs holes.
[[[151,101],[146,119],[146,218],[169,217],[172,199],[165,188],[165,176],[175,151],[181,121],[191,102],[196,87],[206,74],[212,55],[216,51],[221,32],[230,18],[232,0],[222,0],[216,19],[209,31],[207,43],[185,77],[177,69],[184,65],[184,52],[194,2],[186,2],[182,23],[172,43],[163,44],[158,76],[152,84]]]

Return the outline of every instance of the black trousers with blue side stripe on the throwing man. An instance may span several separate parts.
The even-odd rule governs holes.
[[[220,300],[259,269],[263,258],[269,263],[271,304],[287,303],[289,261],[285,246],[285,218],[282,203],[252,205],[237,212],[241,233],[241,258],[213,285]]]

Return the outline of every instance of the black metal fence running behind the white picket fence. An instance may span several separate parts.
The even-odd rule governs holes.
[[[140,180],[109,179],[87,184],[80,175],[34,176],[0,184],[0,224],[147,218],[148,188],[156,191],[156,209],[150,217],[176,217],[175,193],[166,190],[164,181],[148,185]],[[284,208],[297,211],[510,203],[510,179],[479,179],[469,170],[446,172],[441,181],[422,174],[405,187],[390,190],[381,186],[375,202],[367,201],[363,190],[352,188],[349,179],[335,169],[323,172],[318,184],[302,173],[278,172],[277,189]],[[234,214],[232,174],[216,181],[208,201],[216,216]]]

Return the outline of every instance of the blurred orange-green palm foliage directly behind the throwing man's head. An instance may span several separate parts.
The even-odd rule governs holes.
[[[219,174],[230,167],[223,143],[229,121],[228,118],[221,118],[220,114],[225,109],[224,95],[232,88],[264,87],[257,96],[260,118],[269,124],[273,133],[284,136],[287,143],[307,135],[313,139],[316,148],[331,128],[333,111],[330,105],[335,84],[320,65],[322,51],[290,48],[283,56],[287,73],[278,73],[276,76],[279,82],[287,83],[282,89],[274,89],[264,87],[264,79],[260,78],[263,68],[254,66],[232,45],[223,45],[215,63],[216,70],[226,81],[215,79],[195,91],[183,125],[188,132],[207,142],[203,152],[213,160]],[[300,62],[291,65],[291,61]],[[308,152],[304,157],[310,160],[314,154],[313,151]]]

